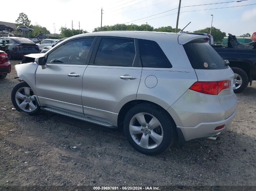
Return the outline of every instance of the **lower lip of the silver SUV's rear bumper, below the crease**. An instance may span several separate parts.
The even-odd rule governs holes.
[[[199,123],[195,127],[182,127],[177,126],[178,129],[181,130],[184,140],[189,141],[191,139],[197,139],[197,138],[208,138],[215,135],[218,135],[221,131],[226,129],[233,121],[237,110],[234,111],[234,113],[229,116],[227,119],[217,121],[217,122],[207,122],[207,123]],[[225,125],[223,129],[214,131],[214,129],[218,126]]]

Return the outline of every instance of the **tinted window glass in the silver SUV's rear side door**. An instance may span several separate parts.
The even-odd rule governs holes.
[[[102,38],[94,63],[98,65],[132,66],[134,57],[134,40]]]

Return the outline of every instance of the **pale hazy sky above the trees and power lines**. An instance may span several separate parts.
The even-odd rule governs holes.
[[[178,27],[183,28],[190,21],[191,23],[185,29],[190,32],[211,27],[211,14],[213,14],[212,26],[227,35],[231,33],[232,35],[240,36],[245,33],[252,34],[256,32],[256,0],[233,1],[181,0]],[[179,0],[44,0],[35,6],[31,5],[33,1],[23,0],[21,3],[21,1],[13,0],[12,2],[11,10],[4,10],[8,17],[1,16],[1,21],[15,23],[19,13],[24,12],[28,15],[28,19],[31,20],[31,24],[39,24],[42,27],[46,27],[51,33],[54,33],[55,28],[56,33],[60,33],[59,29],[61,27],[71,28],[72,21],[74,29],[79,29],[80,22],[80,29],[92,32],[95,27],[100,27],[101,25],[101,7],[103,8],[102,26],[117,23],[141,25],[147,22],[148,25],[154,28],[162,26],[175,28],[179,5]],[[202,5],[220,2],[229,3]],[[190,5],[201,6],[184,7]],[[223,8],[240,5],[248,6]],[[202,9],[211,10],[196,11]],[[11,14],[9,14],[10,11],[12,12]]]

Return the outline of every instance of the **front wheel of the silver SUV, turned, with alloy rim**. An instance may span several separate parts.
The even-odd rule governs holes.
[[[40,113],[40,107],[36,104],[34,93],[25,81],[14,86],[11,99],[17,111],[28,113],[28,115],[37,115]]]

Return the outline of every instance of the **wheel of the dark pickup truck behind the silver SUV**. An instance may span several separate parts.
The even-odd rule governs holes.
[[[236,89],[234,89],[234,93],[242,92],[249,83],[248,75],[241,68],[231,68],[235,74],[234,83]]]

